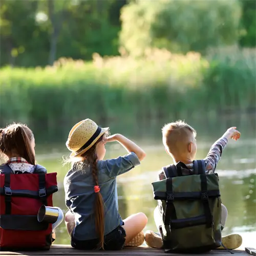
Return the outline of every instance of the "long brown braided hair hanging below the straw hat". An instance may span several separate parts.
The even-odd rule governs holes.
[[[82,164],[91,167],[92,176],[94,179],[94,183],[96,186],[99,185],[98,183],[98,167],[97,167],[97,154],[96,154],[96,146],[100,143],[103,139],[102,135],[97,142],[83,155],[81,155]],[[75,163],[74,165],[79,165],[79,162]],[[80,166],[81,167],[81,166]],[[78,168],[79,169],[79,168]],[[99,237],[99,244],[97,249],[104,249],[104,202],[100,192],[95,193],[96,199],[94,204],[94,212],[95,212],[95,227],[96,232]]]

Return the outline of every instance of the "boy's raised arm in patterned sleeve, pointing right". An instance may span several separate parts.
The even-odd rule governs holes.
[[[204,159],[206,166],[206,174],[215,172],[217,163],[221,159],[222,151],[224,150],[228,140],[238,140],[240,138],[240,132],[238,132],[236,129],[237,127],[229,128],[220,139],[218,139],[214,144],[212,144],[209,153]]]

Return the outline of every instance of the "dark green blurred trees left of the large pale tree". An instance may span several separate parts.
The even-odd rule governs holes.
[[[118,54],[126,0],[1,0],[0,66],[46,66],[59,57]]]

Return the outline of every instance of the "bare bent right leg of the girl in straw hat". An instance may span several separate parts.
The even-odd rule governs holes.
[[[146,226],[147,217],[139,212],[138,214],[134,214],[123,220],[124,222],[124,230],[126,233],[125,245],[127,245],[133,238],[135,238]]]

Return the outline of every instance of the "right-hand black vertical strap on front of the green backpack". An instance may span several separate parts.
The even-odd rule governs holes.
[[[206,174],[201,174],[200,179],[201,179],[201,193],[202,193],[201,199],[203,202],[204,214],[206,217],[206,227],[209,228],[213,223],[213,217],[212,217],[210,205],[209,205]]]

